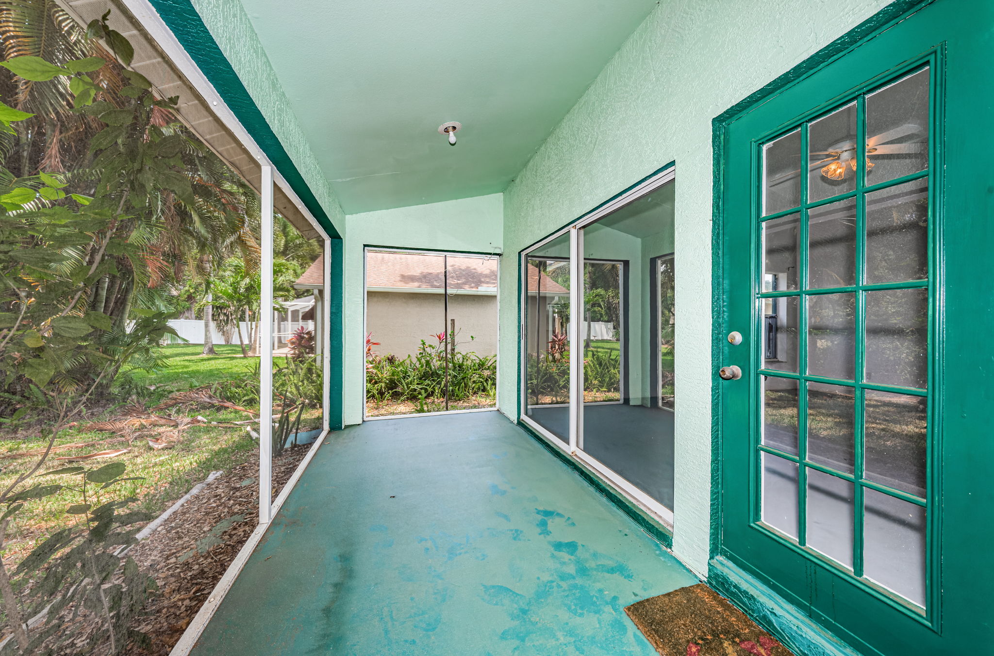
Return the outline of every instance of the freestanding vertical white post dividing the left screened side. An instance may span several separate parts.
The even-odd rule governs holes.
[[[258,354],[258,523],[272,514],[272,167],[262,167],[262,292],[259,299]]]

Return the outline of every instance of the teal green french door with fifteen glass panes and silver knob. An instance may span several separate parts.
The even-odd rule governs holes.
[[[992,26],[921,3],[724,128],[718,557],[864,654],[994,653]]]

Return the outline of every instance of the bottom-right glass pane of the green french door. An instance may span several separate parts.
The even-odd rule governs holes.
[[[863,572],[867,579],[925,604],[925,509],[865,491]]]

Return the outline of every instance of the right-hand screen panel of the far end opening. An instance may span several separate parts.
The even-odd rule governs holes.
[[[447,255],[448,410],[497,400],[497,258]]]

